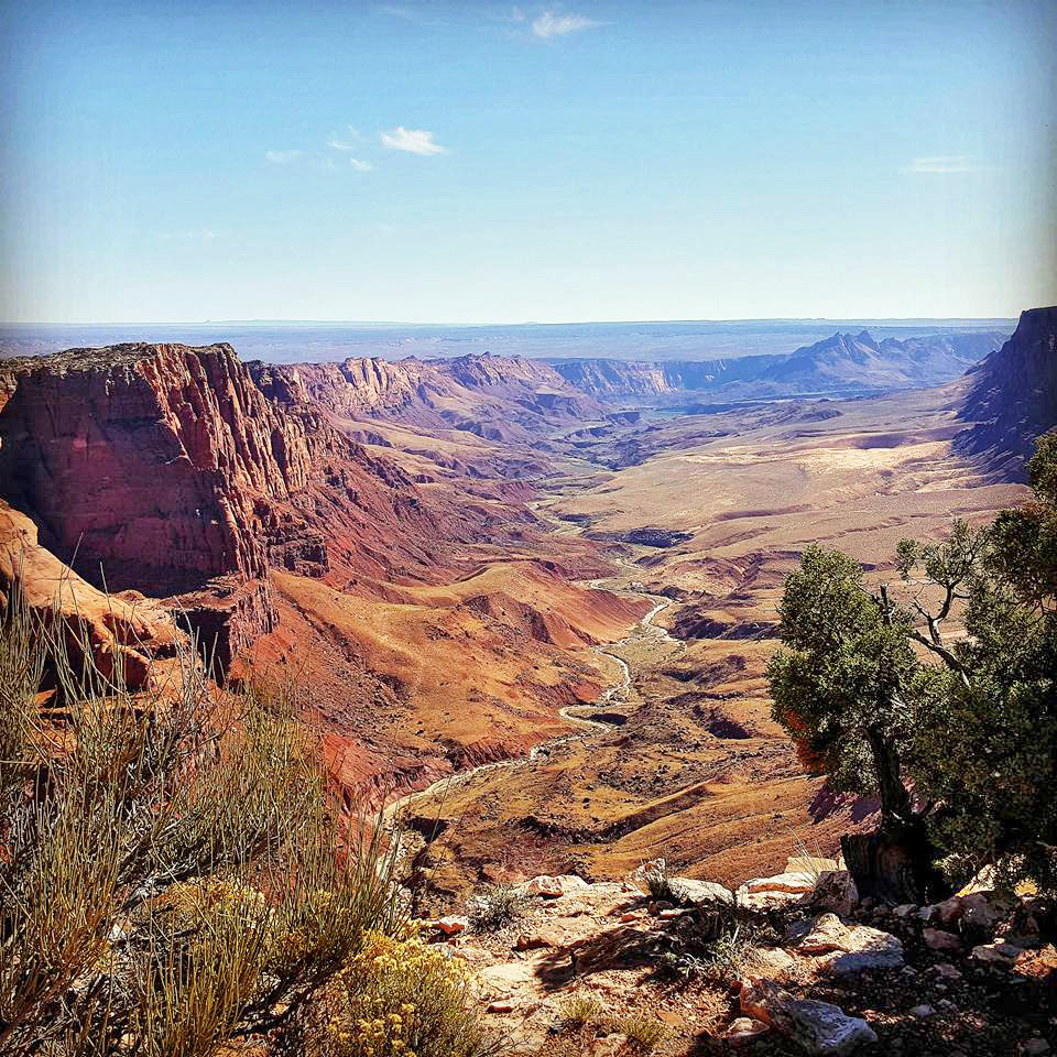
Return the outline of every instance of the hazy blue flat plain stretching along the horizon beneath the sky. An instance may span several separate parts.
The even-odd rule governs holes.
[[[1015,319],[743,319],[679,323],[562,323],[516,326],[412,326],[357,323],[193,323],[0,326],[0,356],[41,356],[121,341],[228,341],[243,360],[314,362],[347,357],[456,357],[492,352],[558,359],[733,359],[793,352],[838,330],[868,329],[879,341],[944,331],[1009,330]]]

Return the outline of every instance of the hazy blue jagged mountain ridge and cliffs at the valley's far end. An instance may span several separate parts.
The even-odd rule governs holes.
[[[1007,331],[883,338],[838,331],[795,352],[721,360],[552,359],[577,389],[607,399],[678,402],[687,393],[727,399],[856,394],[941,385],[998,349]]]

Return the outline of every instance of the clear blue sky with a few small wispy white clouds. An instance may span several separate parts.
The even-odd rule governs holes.
[[[0,318],[1007,316],[1057,4],[4,2]]]

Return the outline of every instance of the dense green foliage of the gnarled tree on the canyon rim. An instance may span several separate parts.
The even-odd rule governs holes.
[[[805,553],[769,668],[774,716],[885,826],[927,822],[955,875],[1000,865],[1053,886],[1057,844],[1057,438],[1033,502],[941,543],[903,541],[871,590],[848,556]],[[912,807],[908,788],[913,787]]]

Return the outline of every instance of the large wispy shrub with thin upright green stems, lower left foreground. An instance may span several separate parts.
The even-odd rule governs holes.
[[[92,656],[87,628],[2,600],[0,1051],[282,1031],[394,926],[396,842],[339,825],[293,689],[221,691],[194,643],[138,691]]]

